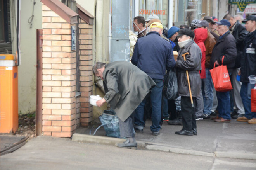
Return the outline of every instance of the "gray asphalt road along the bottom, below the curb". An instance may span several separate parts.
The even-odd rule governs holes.
[[[1,170],[255,170],[255,160],[214,158],[39,136],[1,156]]]

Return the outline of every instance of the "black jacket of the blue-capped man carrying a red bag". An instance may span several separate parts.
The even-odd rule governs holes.
[[[221,37],[221,36],[220,36]],[[211,54],[210,69],[213,68],[215,61],[221,65],[222,57],[224,57],[223,65],[226,65],[228,72],[232,71],[235,66],[235,58],[237,56],[237,49],[235,44],[235,38],[230,34],[230,31],[226,32],[224,36],[219,39],[217,44],[213,47],[213,53]]]

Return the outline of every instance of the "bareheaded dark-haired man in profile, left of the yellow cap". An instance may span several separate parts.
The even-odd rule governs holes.
[[[142,16],[137,16],[133,18],[133,29],[138,32],[137,38],[146,35],[145,18]]]

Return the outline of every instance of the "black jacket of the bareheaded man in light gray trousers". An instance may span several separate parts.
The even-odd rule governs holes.
[[[237,47],[237,58],[235,59],[235,67],[239,68],[241,67],[241,57],[243,55],[243,41],[246,35],[248,34],[248,31],[246,31],[245,27],[240,24],[240,22],[235,23],[235,27],[233,29],[232,35],[235,38],[235,43]]]

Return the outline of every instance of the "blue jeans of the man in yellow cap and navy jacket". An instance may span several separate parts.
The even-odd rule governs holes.
[[[161,79],[155,79],[153,78],[154,82],[156,83],[156,86],[151,89],[151,104],[152,104],[152,126],[150,126],[150,129],[152,132],[158,132],[160,130],[160,122],[161,122],[161,105],[162,105],[162,91],[163,91],[163,80]],[[140,105],[135,109],[135,128],[143,129],[144,127],[144,106],[145,106],[146,100],[144,99]]]

